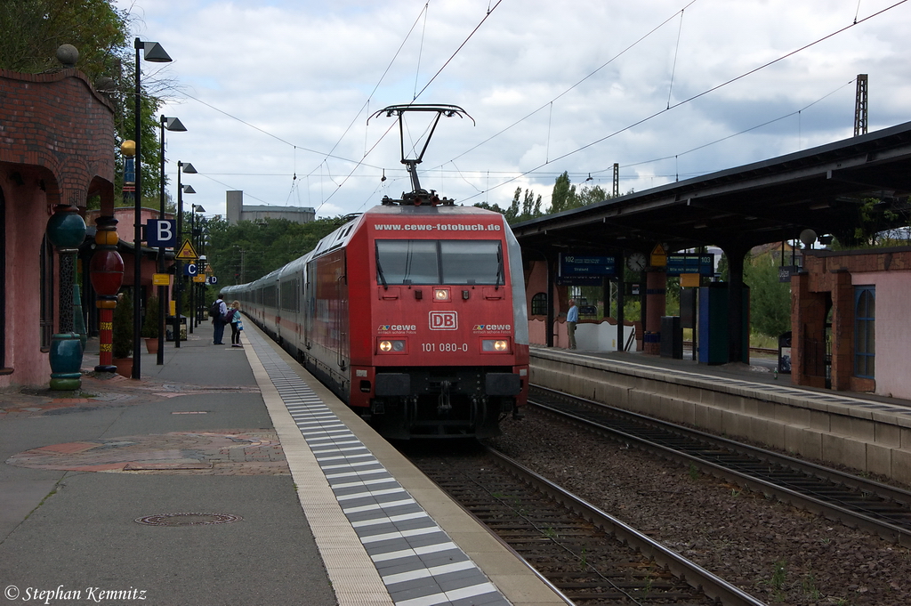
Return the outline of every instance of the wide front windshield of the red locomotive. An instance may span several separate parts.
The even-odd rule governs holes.
[[[503,252],[497,240],[377,240],[376,281],[503,284]]]

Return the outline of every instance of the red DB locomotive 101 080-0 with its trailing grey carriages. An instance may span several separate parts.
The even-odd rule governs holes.
[[[383,112],[415,108],[462,112]],[[421,190],[419,162],[403,158],[415,190],[401,200],[225,291],[385,437],[496,436],[527,398],[521,252],[501,214]]]

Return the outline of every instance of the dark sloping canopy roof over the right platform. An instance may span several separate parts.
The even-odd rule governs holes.
[[[779,158],[631,193],[512,226],[525,249],[725,251],[799,238],[812,229],[849,241],[864,200],[906,224],[911,122]],[[867,209],[866,212],[870,212]],[[905,221],[905,222],[902,222]],[[889,225],[882,225],[883,228]]]

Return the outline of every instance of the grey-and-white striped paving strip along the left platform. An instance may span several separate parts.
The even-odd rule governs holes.
[[[249,331],[246,337],[394,603],[507,606],[496,586],[281,355],[259,334]]]

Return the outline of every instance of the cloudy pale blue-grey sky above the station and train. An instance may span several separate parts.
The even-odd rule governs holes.
[[[474,118],[441,121],[422,186],[501,206],[517,187],[547,206],[563,171],[611,190],[619,163],[623,193],[849,138],[862,73],[870,131],[911,120],[907,0],[118,5],[174,59],[143,78],[188,128],[166,135],[169,187],[191,162],[207,215],[227,190],[319,217],[411,190],[394,119],[367,118],[413,101]],[[407,153],[426,126],[408,121]]]

